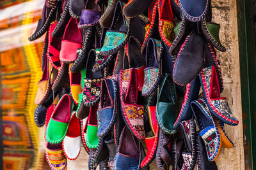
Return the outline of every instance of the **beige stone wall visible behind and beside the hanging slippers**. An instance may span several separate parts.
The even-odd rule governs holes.
[[[220,39],[227,48],[226,52],[218,52],[217,54],[221,63],[225,88],[221,96],[227,97],[231,110],[239,119],[239,125],[236,127],[225,125],[225,131],[233,141],[234,147],[230,149],[222,148],[216,162],[219,169],[244,169],[236,0],[212,0],[212,22],[221,25]],[[68,160],[68,170],[86,169],[87,166],[88,155],[84,148],[82,148],[77,160]],[[155,161],[152,162],[150,169],[157,169]]]

